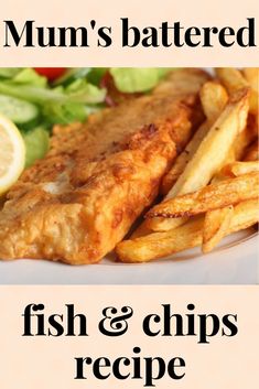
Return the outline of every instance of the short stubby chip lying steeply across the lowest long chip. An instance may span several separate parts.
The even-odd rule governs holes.
[[[207,212],[203,226],[203,252],[209,252],[224,238],[234,213],[233,205]]]

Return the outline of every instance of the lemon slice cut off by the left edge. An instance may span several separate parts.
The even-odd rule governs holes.
[[[25,165],[25,145],[18,128],[0,115],[0,195],[17,182]]]

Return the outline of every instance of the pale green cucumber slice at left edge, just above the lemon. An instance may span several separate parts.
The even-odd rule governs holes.
[[[33,104],[6,95],[0,95],[0,112],[18,126],[35,121],[40,115]]]

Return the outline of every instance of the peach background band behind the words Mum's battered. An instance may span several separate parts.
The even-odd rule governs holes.
[[[162,21],[181,21],[186,26],[218,28],[246,24],[246,18],[258,18],[257,0],[8,0],[1,4],[0,65],[1,66],[255,66],[258,47],[183,47],[122,48],[120,18],[143,28],[159,26]],[[37,26],[84,26],[95,19],[98,25],[111,25],[114,44],[110,47],[75,48],[3,48],[3,20],[13,20],[19,28],[25,20]],[[257,20],[257,24],[259,21]],[[256,36],[258,40],[258,25]]]

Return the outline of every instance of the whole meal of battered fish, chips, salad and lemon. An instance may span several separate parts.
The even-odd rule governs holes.
[[[78,86],[69,71],[35,97],[24,79],[0,80],[0,259],[84,264],[115,250],[140,263],[206,253],[257,225],[259,69],[166,68],[148,80],[128,72],[91,71],[98,86]],[[24,130],[35,117],[51,134]]]

